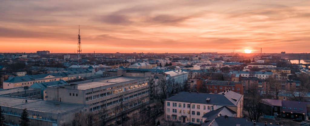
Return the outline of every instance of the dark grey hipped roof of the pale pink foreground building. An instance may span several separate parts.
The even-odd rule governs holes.
[[[181,102],[192,102],[201,104],[214,104],[223,106],[237,106],[238,101],[243,98],[243,95],[236,92],[228,91],[223,95],[212,94],[212,93],[196,93],[196,92],[179,92],[178,94],[167,98],[167,101],[181,101]],[[210,98],[207,102],[206,99]]]

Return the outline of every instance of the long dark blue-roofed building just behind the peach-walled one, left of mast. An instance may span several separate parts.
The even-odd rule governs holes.
[[[28,74],[50,74],[50,73],[61,73],[64,71],[64,68],[58,67],[42,67],[42,66],[32,66],[28,68]]]

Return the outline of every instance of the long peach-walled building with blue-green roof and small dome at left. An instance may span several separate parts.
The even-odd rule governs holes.
[[[16,76],[9,77],[8,80],[3,82],[3,89],[31,86],[33,83],[51,82],[59,80],[76,80],[82,77],[93,76],[95,70],[92,66],[89,66],[87,70],[67,69],[70,71],[62,73],[51,73],[51,74],[38,74],[28,76]]]

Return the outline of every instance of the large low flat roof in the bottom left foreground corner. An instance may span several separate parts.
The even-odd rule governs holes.
[[[63,113],[70,110],[75,110],[78,108],[82,108],[87,105],[82,104],[74,104],[74,103],[67,103],[67,102],[58,102],[58,101],[46,101],[46,100],[39,100],[39,99],[30,99],[30,98],[21,98],[21,97],[11,97],[11,96],[3,96],[0,95],[0,105],[1,106],[8,106],[8,107],[15,107],[15,108],[27,108],[27,110],[35,110],[35,111],[42,111],[48,113]],[[28,102],[25,102],[27,99]]]

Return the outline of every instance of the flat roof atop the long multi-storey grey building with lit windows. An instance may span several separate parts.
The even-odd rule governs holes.
[[[131,81],[135,79],[140,79],[141,77],[116,77],[116,78],[109,78],[109,79],[97,79],[97,80],[90,80],[86,82],[78,82],[78,83],[71,83],[71,84],[78,84],[78,90],[86,90],[90,88],[96,88],[101,86],[106,86],[115,83],[121,83],[126,81]]]

